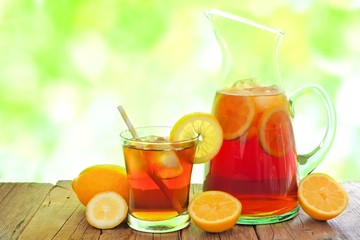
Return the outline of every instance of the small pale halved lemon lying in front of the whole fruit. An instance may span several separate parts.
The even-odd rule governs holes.
[[[99,229],[110,229],[119,225],[126,217],[128,206],[116,192],[96,194],[86,206],[86,220]]]

